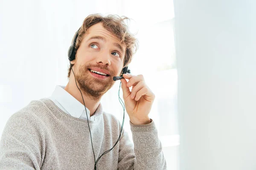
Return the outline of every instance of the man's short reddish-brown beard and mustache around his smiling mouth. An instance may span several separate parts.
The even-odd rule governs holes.
[[[88,70],[89,68],[100,68],[110,73],[106,79],[98,79],[93,77]],[[76,70],[76,69],[75,69]],[[80,65],[76,71],[76,82],[82,93],[87,94],[90,99],[99,100],[115,83],[112,79],[114,72],[109,70],[107,66],[100,65]]]

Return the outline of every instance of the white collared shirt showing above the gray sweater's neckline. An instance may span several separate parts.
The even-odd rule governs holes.
[[[52,92],[52,96],[47,97],[51,99],[55,105],[57,105],[62,111],[66,112],[67,114],[79,118],[79,119],[88,119],[91,121],[96,120],[96,116],[90,116],[90,111],[84,105],[82,105],[75,97],[65,91],[65,86],[63,85],[56,85],[55,90]]]

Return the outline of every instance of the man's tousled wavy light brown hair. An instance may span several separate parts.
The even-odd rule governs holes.
[[[112,34],[116,35],[121,43],[125,45],[126,51],[123,67],[126,67],[131,62],[133,55],[138,49],[138,40],[129,32],[128,26],[125,24],[125,20],[130,19],[125,16],[119,17],[118,15],[112,14],[109,14],[106,17],[102,16],[101,14],[89,15],[84,19],[83,25],[79,29],[79,34],[76,39],[76,49],[79,48],[83,35],[87,32],[87,29],[96,23],[102,23],[104,28],[106,28]],[[69,65],[67,76],[68,78],[70,77],[70,71],[73,65],[74,64],[71,64],[71,67]]]

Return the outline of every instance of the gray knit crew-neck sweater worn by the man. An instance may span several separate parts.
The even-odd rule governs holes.
[[[96,159],[116,143],[121,124],[113,115],[95,112],[90,121]],[[97,170],[166,170],[162,145],[152,121],[131,124],[134,144],[122,131],[120,141],[96,164]],[[52,100],[31,101],[6,123],[0,141],[0,170],[93,170],[87,120],[70,116]]]

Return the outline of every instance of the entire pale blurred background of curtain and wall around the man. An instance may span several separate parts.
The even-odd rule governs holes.
[[[256,170],[255,9],[255,0],[0,0],[0,135],[13,113],[67,85],[84,18],[118,14],[139,40],[129,68],[156,95],[149,116],[168,170]],[[102,105],[122,121],[118,89]],[[132,139],[127,115],[124,128]]]

